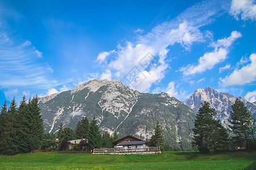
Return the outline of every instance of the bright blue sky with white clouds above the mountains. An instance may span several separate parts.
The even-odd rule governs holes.
[[[210,86],[253,102],[255,21],[253,0],[0,0],[0,102],[92,78],[181,101]]]

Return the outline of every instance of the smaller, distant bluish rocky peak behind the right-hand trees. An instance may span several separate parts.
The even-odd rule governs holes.
[[[200,108],[201,103],[208,101],[210,106],[216,109],[217,114],[215,116],[216,120],[220,120],[221,124],[228,128],[230,111],[232,111],[231,105],[234,104],[236,99],[241,100],[247,109],[251,111],[253,117],[256,117],[256,105],[250,103],[243,97],[236,97],[227,93],[221,93],[213,88],[207,87],[205,90],[199,88],[197,89],[189,99],[183,101],[184,104],[188,105],[194,111]]]

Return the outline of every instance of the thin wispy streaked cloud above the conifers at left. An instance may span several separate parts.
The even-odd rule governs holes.
[[[52,68],[36,57],[35,47],[28,40],[15,39],[0,31],[0,84],[3,88],[28,88],[46,90],[56,86],[49,80]]]

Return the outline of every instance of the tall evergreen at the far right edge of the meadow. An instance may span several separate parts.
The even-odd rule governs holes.
[[[236,99],[231,106],[233,112],[230,112],[233,139],[238,146],[250,148],[255,142],[255,120],[251,117],[251,112],[245,107],[242,101]]]

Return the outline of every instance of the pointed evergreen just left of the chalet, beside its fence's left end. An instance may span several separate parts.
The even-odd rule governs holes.
[[[88,126],[87,139],[89,143],[89,148],[100,148],[102,146],[102,136],[100,128],[98,128],[96,118],[93,116],[93,120]]]

